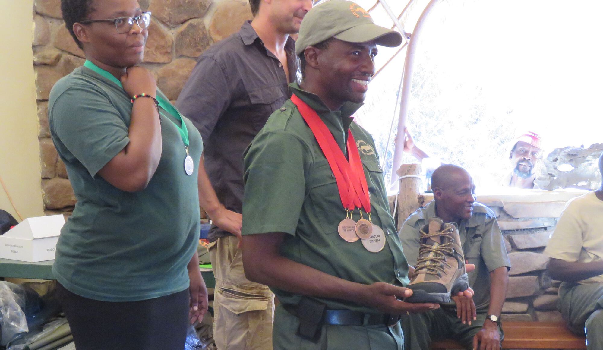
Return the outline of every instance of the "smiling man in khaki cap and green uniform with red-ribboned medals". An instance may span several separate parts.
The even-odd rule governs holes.
[[[295,46],[303,80],[245,154],[243,263],[281,303],[274,349],[400,350],[399,315],[439,307],[398,300],[408,264],[373,139],[350,118],[377,45],[401,41],[353,2],[314,7]]]

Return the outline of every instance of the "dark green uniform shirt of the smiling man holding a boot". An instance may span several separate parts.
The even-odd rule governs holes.
[[[367,178],[371,218],[383,229],[386,244],[380,252],[371,253],[360,240],[349,243],[339,237],[337,228],[346,218],[346,209],[335,176],[291,100],[272,113],[245,153],[242,234],[285,232],[282,256],[348,281],[408,284],[408,264],[390,214],[373,138],[350,118],[361,104],[348,102],[332,112],[317,95],[301,90],[296,83],[290,86],[316,110],[344,154],[347,130],[352,130]],[[359,219],[358,210],[354,218]],[[271,289],[283,304],[297,305],[300,301],[300,294]],[[378,312],[353,302],[317,299],[330,309]]]

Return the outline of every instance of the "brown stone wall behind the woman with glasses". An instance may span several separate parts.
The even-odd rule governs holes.
[[[238,31],[251,19],[247,0],[140,0],[153,13],[143,65],[170,100],[178,94],[197,57],[212,43]],[[42,193],[46,214],[69,214],[75,196],[50,139],[48,95],[54,83],[83,65],[84,53],[62,20],[60,0],[36,0],[33,8]]]

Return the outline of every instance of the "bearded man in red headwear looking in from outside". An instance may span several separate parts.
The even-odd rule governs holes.
[[[502,186],[516,188],[534,188],[534,165],[543,156],[540,135],[528,132],[516,139],[509,159],[513,170],[500,182]]]

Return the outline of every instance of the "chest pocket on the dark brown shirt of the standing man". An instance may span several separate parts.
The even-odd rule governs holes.
[[[253,88],[247,92],[251,102],[250,118],[256,130],[262,129],[268,117],[286,101],[280,86]]]

